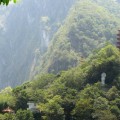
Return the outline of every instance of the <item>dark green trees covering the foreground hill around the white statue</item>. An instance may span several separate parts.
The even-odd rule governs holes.
[[[58,75],[37,75],[33,81],[0,93],[0,118],[33,120],[26,111],[27,102],[34,101],[41,120],[118,120],[120,119],[120,52],[107,44],[94,52],[78,67]],[[90,64],[91,63],[91,64]],[[106,85],[102,86],[101,73]],[[2,114],[10,106],[15,114]]]

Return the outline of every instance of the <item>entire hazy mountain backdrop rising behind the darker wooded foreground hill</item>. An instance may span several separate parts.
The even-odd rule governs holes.
[[[58,74],[106,42],[115,44],[119,13],[118,0],[21,0],[1,6],[0,88],[38,73]]]

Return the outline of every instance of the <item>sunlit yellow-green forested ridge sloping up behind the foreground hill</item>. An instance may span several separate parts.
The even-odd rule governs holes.
[[[115,0],[78,0],[40,62],[39,72],[59,73],[76,66],[107,41],[115,43],[120,26]]]

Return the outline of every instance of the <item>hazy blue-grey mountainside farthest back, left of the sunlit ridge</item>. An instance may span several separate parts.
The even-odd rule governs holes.
[[[0,8],[0,87],[29,79],[73,2],[23,0]]]

